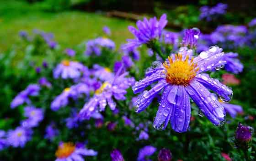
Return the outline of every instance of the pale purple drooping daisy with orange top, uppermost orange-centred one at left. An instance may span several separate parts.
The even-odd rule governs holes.
[[[63,60],[57,67],[53,70],[53,77],[57,78],[79,78],[81,71],[83,71],[85,66],[80,62],[72,62],[68,60]]]

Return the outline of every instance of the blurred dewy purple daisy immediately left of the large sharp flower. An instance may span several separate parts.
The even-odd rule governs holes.
[[[80,110],[81,119],[90,119],[91,114],[95,111],[103,111],[107,104],[110,109],[116,109],[116,103],[112,99],[124,100],[126,89],[129,88],[134,83],[134,78],[126,78],[128,73],[123,73],[120,75],[122,68],[119,69],[115,78],[104,82],[101,88],[97,89],[95,95],[87,102],[83,109]]]

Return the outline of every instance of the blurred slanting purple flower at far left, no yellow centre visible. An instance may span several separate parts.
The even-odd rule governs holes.
[[[27,103],[30,104],[31,101],[29,96],[37,96],[39,94],[40,86],[37,84],[30,84],[27,88],[21,91],[16,97],[11,101],[11,108],[14,109],[15,107]]]

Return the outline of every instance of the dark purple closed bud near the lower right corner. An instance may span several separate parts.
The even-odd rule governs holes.
[[[235,131],[235,140],[239,142],[248,142],[252,139],[253,128],[250,126],[244,126],[241,123],[238,124],[238,127]]]

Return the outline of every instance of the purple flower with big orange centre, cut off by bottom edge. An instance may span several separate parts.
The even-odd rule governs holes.
[[[83,156],[96,156],[97,152],[86,149],[83,146],[76,146],[73,143],[60,143],[55,156],[55,161],[84,161]]]

